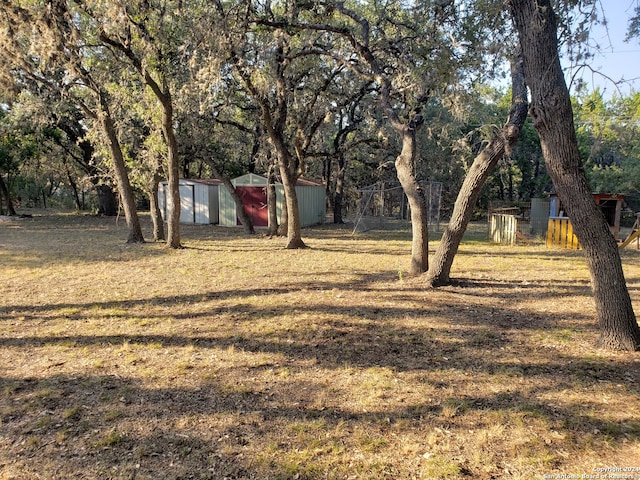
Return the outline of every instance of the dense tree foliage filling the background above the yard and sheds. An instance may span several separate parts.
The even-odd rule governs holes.
[[[585,59],[581,42],[597,12],[593,0],[580,2],[586,15],[576,4],[562,2],[558,12],[564,47],[579,61]],[[49,12],[39,2],[8,1],[2,22],[12,36],[4,40],[23,58],[18,65],[0,54],[6,67],[2,78],[8,79],[3,92],[14,99],[9,90],[17,88],[41,101],[37,112],[22,116],[19,128],[8,129],[7,111],[0,118],[0,172],[11,180],[13,193],[18,189],[33,203],[43,192],[58,192],[56,198],[66,202],[72,182],[83,191],[91,182],[111,183],[109,151],[89,113],[97,111],[96,92],[117,120],[136,188],[148,190],[157,165],[166,161],[157,100],[126,58],[101,44],[101,31],[129,45],[149,75],[172,92],[182,176],[212,176],[213,165],[234,177],[265,172],[273,163],[262,106],[233,72],[233,46],[266,105],[277,104],[278,79],[287,82],[286,109],[274,120],[286,124],[286,141],[302,159],[305,175],[325,178],[342,155],[347,195],[355,197],[357,187],[379,180],[396,180],[400,143],[379,109],[380,79],[373,78],[353,43],[364,41],[361,25],[331,2],[219,5],[221,10],[201,0],[63,1],[59,11]],[[510,107],[509,92],[490,86],[505,76],[512,48],[504,2],[345,5],[368,22],[368,46],[391,79],[391,104],[399,118],[407,121],[422,106],[418,177],[443,182],[444,204],[452,205],[474,156],[504,124]],[[20,15],[18,7],[24,9]],[[639,12],[636,8],[629,36],[638,35]],[[321,25],[328,28],[317,28]],[[351,38],[339,34],[347,30]],[[278,63],[280,41],[284,61]],[[581,156],[596,191],[640,190],[637,97],[605,100],[593,92],[575,100]],[[22,109],[21,102],[11,110]],[[85,158],[78,152],[82,141],[93,149]],[[325,180],[335,181],[335,170]],[[480,203],[528,200],[550,189],[537,134],[527,123]]]

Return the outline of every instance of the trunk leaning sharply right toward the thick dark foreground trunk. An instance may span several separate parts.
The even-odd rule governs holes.
[[[520,137],[522,126],[527,118],[527,89],[524,83],[522,58],[518,55],[511,65],[511,111],[507,123],[491,138],[489,144],[474,159],[464,178],[458,198],[453,207],[451,219],[442,234],[435,255],[426,274],[426,284],[431,287],[447,285],[450,281],[451,266],[462,241],[473,209],[478,201],[487,178],[496,164]]]

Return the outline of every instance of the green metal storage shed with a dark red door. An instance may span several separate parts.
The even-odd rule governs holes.
[[[252,218],[255,227],[268,226],[267,212],[267,179],[262,175],[248,173],[231,181],[242,199],[245,211]],[[296,183],[298,208],[300,209],[301,226],[323,223],[327,206],[325,202],[325,188],[321,183],[306,179],[298,179]],[[218,190],[220,205],[220,225],[232,227],[239,225],[236,205],[225,188]],[[276,211],[278,220],[282,215],[284,205],[284,187],[276,183]]]

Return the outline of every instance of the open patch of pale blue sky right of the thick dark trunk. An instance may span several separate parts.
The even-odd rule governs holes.
[[[638,0],[601,0],[607,28],[598,25],[590,32],[591,42],[600,45],[600,52],[589,61],[591,68],[616,81],[629,80],[630,85],[616,87],[611,80],[584,69],[581,77],[589,84],[589,90],[600,87],[606,97],[614,93],[629,95],[631,91],[640,91],[640,38],[624,41],[629,18],[634,14],[637,3]]]

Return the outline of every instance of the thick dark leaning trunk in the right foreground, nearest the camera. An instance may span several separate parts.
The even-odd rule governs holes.
[[[531,89],[531,117],[547,170],[585,252],[600,325],[599,345],[640,348],[640,328],[616,241],[596,205],[578,154],[569,91],[550,0],[509,0]]]

